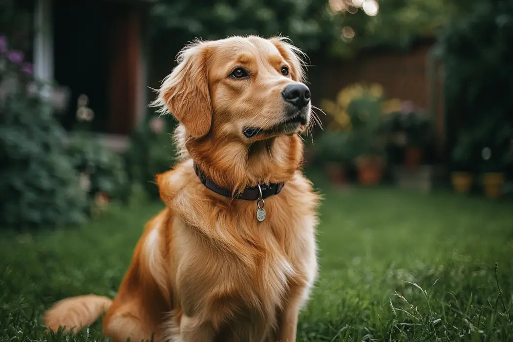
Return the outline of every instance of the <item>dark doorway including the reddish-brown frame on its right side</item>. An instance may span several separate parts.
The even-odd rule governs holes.
[[[137,116],[141,8],[110,1],[55,0],[54,74],[70,88],[62,123],[75,123],[77,98],[89,97],[96,132],[129,134]]]

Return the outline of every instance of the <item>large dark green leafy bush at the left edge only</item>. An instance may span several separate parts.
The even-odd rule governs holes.
[[[4,37],[0,49],[0,223],[80,224],[88,202],[65,153],[65,132],[40,96],[42,88],[29,83],[31,66],[23,54],[7,51]]]

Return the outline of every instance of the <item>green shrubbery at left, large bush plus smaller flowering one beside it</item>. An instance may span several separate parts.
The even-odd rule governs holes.
[[[88,135],[87,97],[81,96],[86,102],[77,111],[78,130],[67,142],[55,118],[65,93],[35,82],[32,65],[23,59],[23,52],[8,49],[0,36],[0,223],[80,224],[105,209],[109,199],[126,202],[130,182],[124,160]]]

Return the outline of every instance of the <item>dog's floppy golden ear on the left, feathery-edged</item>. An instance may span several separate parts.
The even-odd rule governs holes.
[[[212,104],[208,89],[210,50],[204,43],[185,47],[177,55],[178,65],[162,82],[151,104],[161,113],[171,113],[186,131],[199,138],[210,131]]]

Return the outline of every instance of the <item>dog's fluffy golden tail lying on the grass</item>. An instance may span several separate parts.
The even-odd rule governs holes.
[[[66,298],[45,313],[44,324],[54,332],[59,327],[76,332],[93,324],[111,305],[111,299],[92,294]]]

